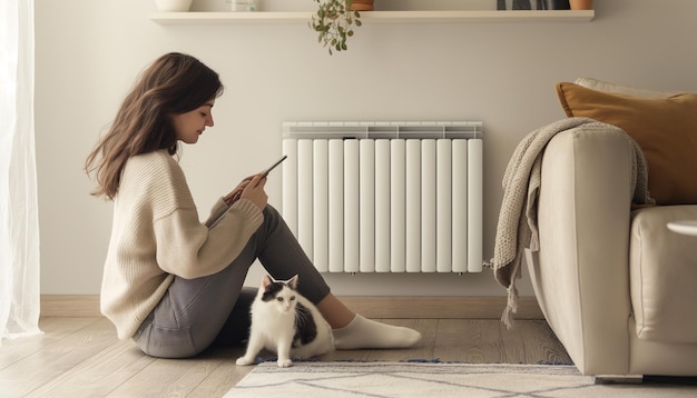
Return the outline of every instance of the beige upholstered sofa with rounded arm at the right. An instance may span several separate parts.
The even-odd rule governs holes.
[[[632,210],[627,132],[571,129],[549,141],[539,251],[527,250],[527,268],[544,317],[581,372],[697,376],[697,237],[667,228],[697,220],[697,205]],[[647,158],[649,190],[664,196],[651,186],[656,161]],[[697,169],[685,175],[687,189],[697,187]]]

